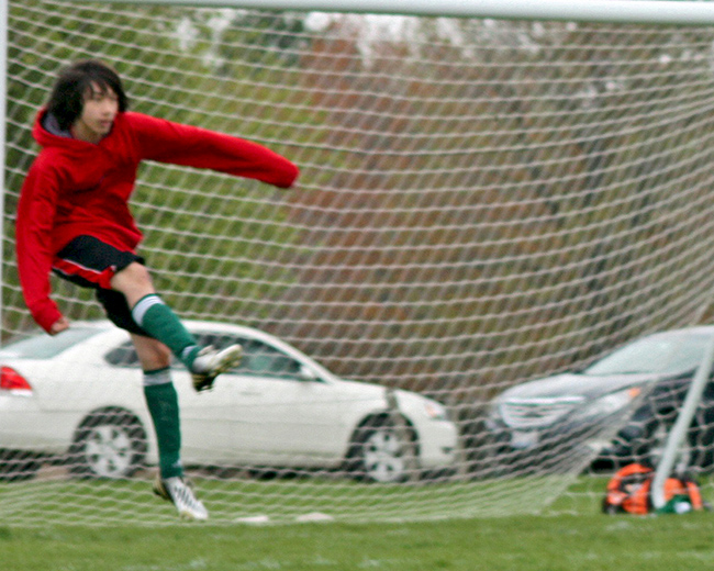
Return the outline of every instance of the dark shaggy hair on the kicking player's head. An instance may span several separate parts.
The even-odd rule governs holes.
[[[101,91],[111,89],[119,98],[119,111],[129,109],[122,80],[111,67],[96,59],[77,61],[62,70],[47,102],[47,111],[57,119],[60,128],[69,128],[79,119],[85,94],[92,83]]]

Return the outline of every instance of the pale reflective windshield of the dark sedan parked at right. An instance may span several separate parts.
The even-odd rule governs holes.
[[[659,334],[639,339],[594,362],[583,374],[674,374],[696,369],[711,337],[703,334]]]

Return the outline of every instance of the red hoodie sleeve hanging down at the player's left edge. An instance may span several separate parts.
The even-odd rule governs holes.
[[[35,322],[48,333],[62,317],[57,304],[49,299],[52,228],[56,205],[56,175],[38,167],[35,161],[20,194],[15,249],[25,303]]]

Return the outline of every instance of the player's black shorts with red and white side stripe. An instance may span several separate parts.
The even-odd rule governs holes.
[[[132,317],[124,294],[110,286],[114,275],[134,261],[144,264],[144,258],[133,251],[116,249],[93,236],[78,236],[55,255],[52,271],[82,288],[96,290],[97,300],[118,327],[149,336]]]

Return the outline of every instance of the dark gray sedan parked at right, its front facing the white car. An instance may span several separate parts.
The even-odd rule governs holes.
[[[714,327],[657,333],[579,370],[513,387],[486,422],[500,469],[567,471],[578,462],[656,462]],[[682,460],[710,466],[714,384],[707,385]]]

